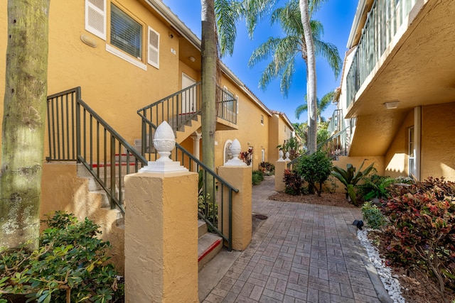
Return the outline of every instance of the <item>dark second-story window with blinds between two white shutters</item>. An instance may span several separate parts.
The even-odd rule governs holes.
[[[142,26],[114,4],[111,4],[110,43],[142,60]]]

